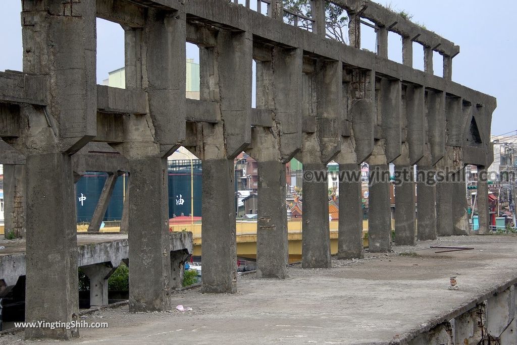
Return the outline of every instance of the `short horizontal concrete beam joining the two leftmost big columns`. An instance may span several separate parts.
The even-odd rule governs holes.
[[[147,92],[97,85],[97,109],[108,114],[147,114]]]

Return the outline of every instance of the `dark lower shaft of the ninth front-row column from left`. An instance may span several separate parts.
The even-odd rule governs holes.
[[[417,239],[419,241],[436,240],[436,185],[433,167],[417,166],[417,176],[420,171],[428,171],[424,180],[417,185]],[[433,183],[433,184],[431,184]]]

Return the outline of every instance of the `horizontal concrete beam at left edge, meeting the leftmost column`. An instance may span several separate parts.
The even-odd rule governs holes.
[[[0,102],[47,105],[47,76],[0,72]]]

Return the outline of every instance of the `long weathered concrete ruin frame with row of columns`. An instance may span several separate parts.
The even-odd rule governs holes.
[[[13,205],[22,205],[22,214],[11,214],[22,217],[13,228],[27,243],[26,321],[77,318],[74,176],[81,171],[129,172],[129,309],[138,312],[171,308],[166,158],[179,146],[203,160],[206,292],[236,291],[233,160],[242,151],[258,162],[257,276],[264,278],[287,276],[283,202],[293,156],[308,171],[334,160],[343,171],[393,163],[461,176],[466,164],[491,164],[496,101],[452,82],[459,46],[369,0],[311,1],[310,30],[284,23],[281,0],[258,0],[258,12],[249,0],[236,2],[23,1],[23,71],[0,73],[0,163],[6,205],[17,198]],[[350,45],[325,37],[326,3],[347,13]],[[126,89],[96,85],[96,18],[125,30]],[[375,27],[377,53],[360,49],[364,19]],[[388,32],[402,37],[403,64],[388,59]],[[200,100],[185,98],[186,42],[200,48]],[[413,68],[414,42],[423,46],[425,71]],[[443,77],[433,74],[433,52],[443,56]],[[370,187],[370,252],[391,249],[388,183]],[[416,185],[416,200],[415,183],[396,190],[399,244],[468,234],[462,184]],[[360,258],[360,181],[341,181],[340,190],[338,256]],[[478,193],[486,209],[488,187]],[[305,180],[303,197],[302,265],[330,268],[326,183]],[[6,227],[18,222],[9,217]],[[479,232],[488,232],[488,211]]]

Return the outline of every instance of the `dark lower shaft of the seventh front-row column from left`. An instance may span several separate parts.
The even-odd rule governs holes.
[[[388,164],[370,165],[370,171],[389,172]],[[370,172],[371,173],[371,172]],[[370,253],[391,251],[389,181],[372,181],[368,195],[368,241]]]

